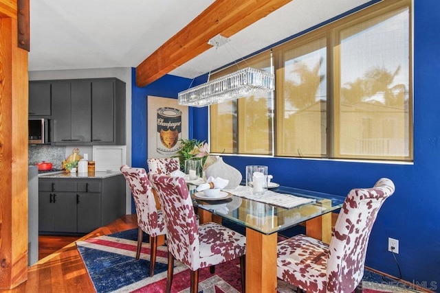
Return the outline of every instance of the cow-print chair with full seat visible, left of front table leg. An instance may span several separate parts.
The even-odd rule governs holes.
[[[190,268],[190,292],[197,292],[199,268],[212,268],[236,257],[240,257],[244,292],[246,238],[213,222],[199,226],[184,178],[155,173],[149,173],[148,178],[157,191],[165,215],[168,241],[166,292],[170,292],[173,283],[174,259]]]

